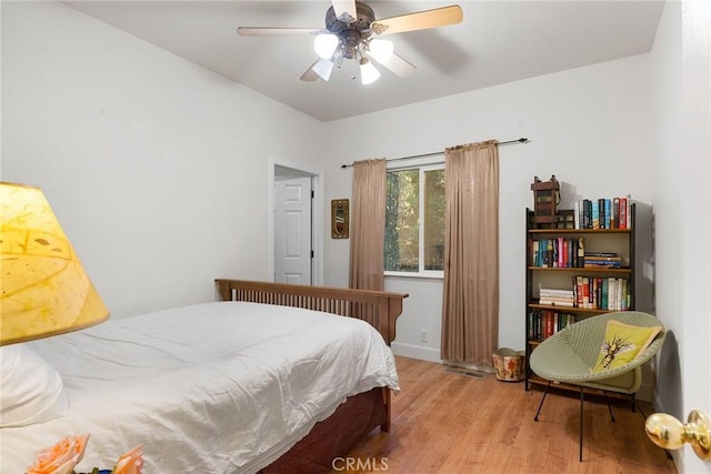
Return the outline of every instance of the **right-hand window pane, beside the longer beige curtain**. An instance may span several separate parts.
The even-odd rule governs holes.
[[[424,270],[444,270],[444,170],[424,172]]]

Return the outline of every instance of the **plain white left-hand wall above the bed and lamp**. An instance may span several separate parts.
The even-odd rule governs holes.
[[[59,2],[2,2],[2,180],[39,185],[113,316],[268,279],[269,161],[321,123]]]

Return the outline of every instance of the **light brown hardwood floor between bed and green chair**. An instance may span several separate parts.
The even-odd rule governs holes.
[[[534,422],[543,392],[525,392],[523,382],[465,377],[400,356],[397,362],[402,391],[393,396],[390,433],[370,433],[333,473],[677,472],[629,404],[613,405],[613,423],[604,403],[585,399],[580,463],[579,397],[549,394]]]

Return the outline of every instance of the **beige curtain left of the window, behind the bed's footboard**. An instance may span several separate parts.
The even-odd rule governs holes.
[[[350,288],[383,290],[385,160],[353,163]]]

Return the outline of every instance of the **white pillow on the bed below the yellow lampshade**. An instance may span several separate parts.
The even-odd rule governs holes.
[[[27,426],[67,414],[61,375],[30,347],[0,347],[0,427]]]

